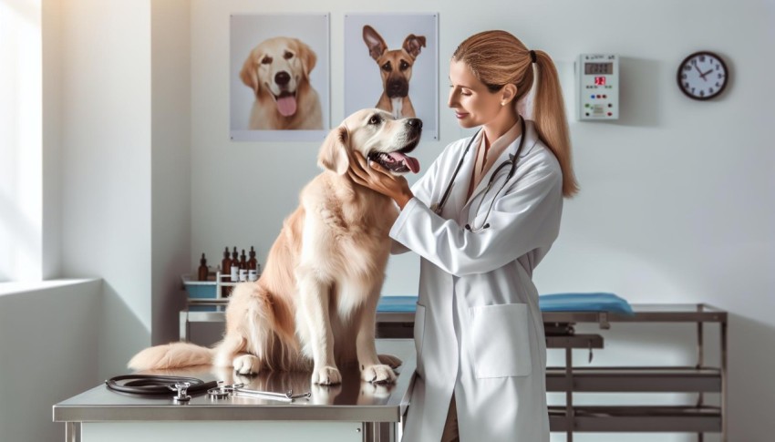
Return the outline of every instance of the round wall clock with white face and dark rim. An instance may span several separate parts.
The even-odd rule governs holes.
[[[714,98],[727,87],[727,65],[712,52],[696,52],[678,67],[678,87],[689,98]]]

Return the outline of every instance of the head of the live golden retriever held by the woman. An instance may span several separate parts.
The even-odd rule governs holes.
[[[417,147],[421,134],[422,120],[418,118],[396,119],[380,109],[358,110],[331,130],[320,148],[317,163],[344,175],[350,155],[357,151],[394,175],[417,173],[418,160],[407,154]]]

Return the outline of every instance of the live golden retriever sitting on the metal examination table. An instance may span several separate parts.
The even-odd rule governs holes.
[[[398,216],[392,200],[347,175],[358,151],[394,174],[417,172],[407,153],[422,121],[359,110],[326,137],[318,154],[323,173],[301,192],[284,221],[261,278],[235,286],[226,332],[213,348],[159,345],[135,355],[129,368],[233,366],[241,375],[263,370],[312,371],[312,383],[342,382],[338,366],[357,363],[361,378],[395,382],[400,360],[377,355],[377,301]]]

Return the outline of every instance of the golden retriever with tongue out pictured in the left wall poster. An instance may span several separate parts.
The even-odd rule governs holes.
[[[323,112],[309,82],[315,52],[298,38],[276,36],[255,46],[240,78],[253,89],[252,130],[322,129]]]

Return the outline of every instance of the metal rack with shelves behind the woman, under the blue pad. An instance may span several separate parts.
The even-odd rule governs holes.
[[[553,432],[675,432],[719,433],[727,441],[727,312],[705,303],[634,304],[634,315],[608,312],[542,312],[546,347],[564,350],[564,365],[548,367],[546,389],[565,394],[564,406],[549,407]],[[411,337],[414,314],[377,314],[377,335]],[[573,349],[604,347],[601,334],[575,334],[575,324],[597,324],[610,330],[617,323],[696,324],[697,363],[693,366],[625,366],[583,368],[573,366]],[[720,363],[705,363],[705,325],[718,324]],[[550,330],[553,331],[550,333]],[[565,333],[554,333],[554,331]],[[697,402],[687,406],[577,406],[576,393],[690,393]],[[720,406],[706,403],[706,394],[719,394]]]

